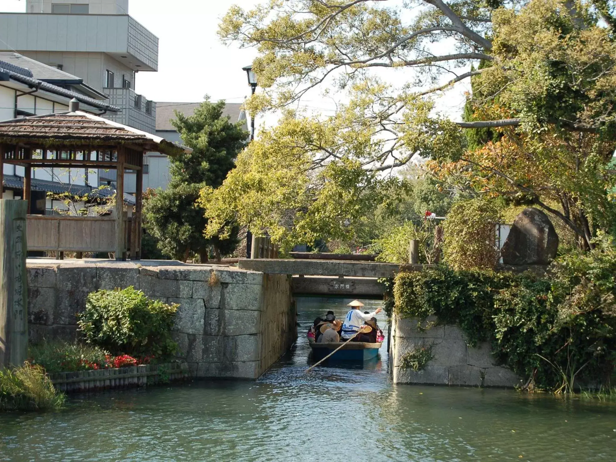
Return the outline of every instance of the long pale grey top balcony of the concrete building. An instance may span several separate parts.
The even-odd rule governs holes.
[[[158,37],[129,15],[0,13],[0,49],[102,52],[135,71],[158,70]]]

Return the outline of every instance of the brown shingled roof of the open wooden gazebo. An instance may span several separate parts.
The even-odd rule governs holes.
[[[61,112],[0,121],[0,143],[26,145],[110,145],[128,143],[166,155],[191,153],[192,149],[172,143],[83,111]]]

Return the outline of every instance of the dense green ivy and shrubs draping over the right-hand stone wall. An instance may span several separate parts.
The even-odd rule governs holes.
[[[616,366],[616,250],[560,257],[546,277],[447,267],[400,273],[395,312],[456,324],[469,346],[492,341],[497,360],[529,387],[572,392],[610,384]]]

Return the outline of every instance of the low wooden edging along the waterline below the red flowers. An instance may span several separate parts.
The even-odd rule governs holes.
[[[188,378],[187,363],[148,364],[50,374],[54,386],[66,393],[145,387]]]

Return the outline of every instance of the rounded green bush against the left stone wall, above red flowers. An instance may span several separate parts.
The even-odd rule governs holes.
[[[99,290],[87,296],[79,330],[87,343],[113,354],[168,355],[177,348],[171,338],[177,307],[148,299],[132,286]]]

